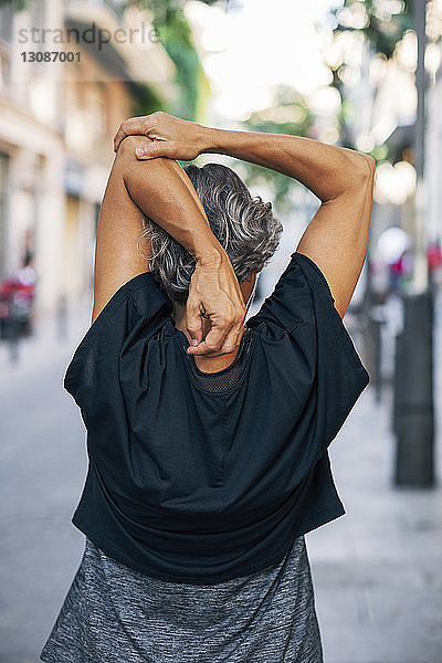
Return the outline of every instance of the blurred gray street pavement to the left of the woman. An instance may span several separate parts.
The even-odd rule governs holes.
[[[87,322],[84,306],[64,340],[53,320],[39,324],[18,366],[0,345],[1,663],[38,660],[80,562],[83,535],[70,518],[85,477],[85,433],[62,381]]]

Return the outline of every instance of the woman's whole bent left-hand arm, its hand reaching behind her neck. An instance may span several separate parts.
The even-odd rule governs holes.
[[[117,151],[97,227],[93,319],[116,290],[146,271],[137,252],[143,214],[158,223],[196,260],[187,304],[187,329],[199,341],[189,354],[232,352],[241,340],[245,305],[225,250],[213,235],[193,186],[181,166],[167,158],[139,161],[134,150],[150,138],[128,136]],[[147,248],[147,251],[150,246]],[[201,314],[211,329],[202,339]]]

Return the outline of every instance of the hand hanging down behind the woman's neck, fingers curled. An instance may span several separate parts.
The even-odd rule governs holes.
[[[198,346],[190,345],[189,355],[219,357],[233,352],[245,330],[246,308],[229,256],[198,261],[191,276],[187,299],[187,329]],[[211,327],[203,339],[202,318]]]

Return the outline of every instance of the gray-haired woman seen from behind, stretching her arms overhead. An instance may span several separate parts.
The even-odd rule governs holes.
[[[41,660],[320,663],[304,535],[345,513],[328,445],[369,382],[341,318],[373,160],[164,113],[124,123],[115,150],[64,381],[87,429],[85,551]],[[176,161],[201,152],[322,201],[245,325],[281,224],[231,169]]]

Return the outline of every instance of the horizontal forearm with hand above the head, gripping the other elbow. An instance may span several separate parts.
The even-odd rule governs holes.
[[[133,117],[123,123],[114,139],[115,148],[127,135],[154,139],[147,145],[144,158],[162,156],[190,160],[203,152],[229,155],[298,180],[322,202],[358,188],[375,164],[364,152],[313,138],[217,129],[167,113]]]

